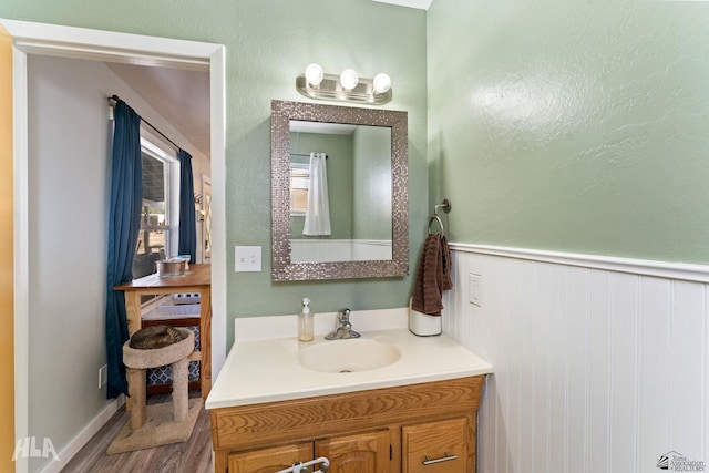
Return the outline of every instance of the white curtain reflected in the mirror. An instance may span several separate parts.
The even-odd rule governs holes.
[[[302,234],[330,235],[330,204],[328,202],[328,172],[325,153],[310,153],[310,189]]]

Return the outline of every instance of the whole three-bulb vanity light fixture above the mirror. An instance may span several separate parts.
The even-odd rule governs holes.
[[[386,73],[374,79],[360,78],[353,69],[341,74],[326,74],[318,64],[309,64],[296,78],[296,89],[305,96],[380,105],[391,101],[391,78]]]

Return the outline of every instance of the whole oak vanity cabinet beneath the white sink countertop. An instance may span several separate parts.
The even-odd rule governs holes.
[[[483,380],[213,409],[215,472],[275,473],[327,456],[330,473],[475,473]]]

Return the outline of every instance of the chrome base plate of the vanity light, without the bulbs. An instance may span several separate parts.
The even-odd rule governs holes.
[[[318,85],[309,84],[306,75],[296,78],[296,89],[305,96],[319,100],[336,100],[343,102],[361,102],[370,105],[381,105],[391,101],[391,89],[384,93],[377,93],[373,80],[359,78],[359,82],[352,90],[345,89],[340,83],[340,76],[325,74]]]

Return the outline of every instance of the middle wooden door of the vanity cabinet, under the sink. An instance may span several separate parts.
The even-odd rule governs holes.
[[[315,456],[330,460],[329,473],[389,473],[389,431],[318,440]]]

